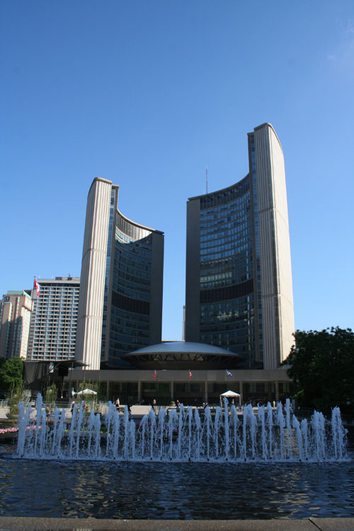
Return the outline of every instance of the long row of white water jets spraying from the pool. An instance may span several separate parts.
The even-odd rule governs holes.
[[[331,422],[314,411],[311,421],[300,422],[287,399],[275,409],[251,404],[242,413],[224,398],[224,411],[212,415],[207,406],[203,418],[198,409],[162,408],[139,424],[125,406],[120,415],[108,402],[101,418],[93,409],[89,417],[84,403],[74,406],[71,421],[56,408],[47,418],[38,398],[33,409],[19,404],[17,457],[34,459],[93,459],[173,462],[329,462],[346,458],[346,430],[341,413],[333,408]],[[48,420],[50,422],[48,422]]]

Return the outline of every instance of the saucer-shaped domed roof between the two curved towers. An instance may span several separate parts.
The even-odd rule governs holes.
[[[192,341],[163,341],[139,348],[123,358],[139,369],[234,368],[244,358],[224,348]]]

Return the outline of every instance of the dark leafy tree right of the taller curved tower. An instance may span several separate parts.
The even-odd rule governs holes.
[[[297,389],[299,405],[354,413],[354,333],[336,328],[299,331],[283,365]]]

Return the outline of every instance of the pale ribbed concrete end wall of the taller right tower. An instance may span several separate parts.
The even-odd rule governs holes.
[[[295,331],[285,167],[279,139],[270,124],[255,129],[263,360],[275,369],[287,358]]]

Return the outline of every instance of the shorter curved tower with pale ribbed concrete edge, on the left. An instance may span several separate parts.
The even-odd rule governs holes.
[[[123,216],[118,188],[95,178],[87,200],[75,357],[92,370],[161,341],[164,233]]]

